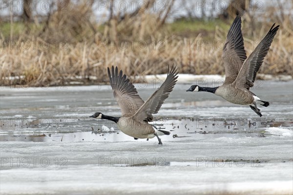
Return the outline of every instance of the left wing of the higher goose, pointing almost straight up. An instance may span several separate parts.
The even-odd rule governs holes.
[[[241,32],[241,17],[238,15],[230,26],[223,48],[222,59],[225,67],[225,84],[232,83],[247,58]]]

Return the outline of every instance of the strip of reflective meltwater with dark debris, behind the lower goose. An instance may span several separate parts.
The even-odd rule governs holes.
[[[166,121],[154,121],[157,129],[170,131],[169,136],[161,136],[162,141],[197,140],[217,137],[266,137],[265,127],[292,127],[292,122],[264,122],[262,120],[244,119],[205,119],[205,118],[185,118],[172,119]],[[111,128],[112,124],[108,124]],[[120,132],[116,124],[113,124],[115,131],[108,128],[92,128],[91,131],[64,131],[64,132],[21,132],[21,133],[1,133],[0,141],[34,141],[34,142],[76,142],[76,141],[146,141],[146,139],[134,140]],[[103,129],[107,129],[104,131]],[[156,138],[149,141],[157,141]]]

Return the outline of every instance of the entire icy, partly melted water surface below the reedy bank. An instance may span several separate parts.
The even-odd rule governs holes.
[[[89,118],[120,116],[107,86],[1,89],[0,193],[293,194],[292,81],[252,90],[271,102],[261,118],[212,94],[182,93],[190,85],[177,84],[154,115],[171,133],[163,145]],[[143,99],[154,91],[138,89]]]

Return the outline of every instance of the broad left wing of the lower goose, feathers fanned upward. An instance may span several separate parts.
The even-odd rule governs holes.
[[[108,68],[108,76],[110,84],[114,90],[114,97],[118,102],[122,116],[130,117],[134,115],[139,108],[145,103],[144,100],[137,94],[133,84],[126,75],[123,75],[122,70],[118,74],[118,68],[112,66],[112,71]]]

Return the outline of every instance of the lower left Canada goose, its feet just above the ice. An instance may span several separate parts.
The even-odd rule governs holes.
[[[158,113],[164,100],[168,98],[177,81],[177,74],[175,67],[172,66],[170,71],[168,68],[165,82],[144,102],[130,80],[123,75],[122,70],[118,74],[118,68],[116,67],[114,71],[112,66],[111,72],[108,68],[108,76],[114,90],[114,97],[121,108],[122,117],[106,116],[99,112],[90,117],[112,120],[117,123],[119,130],[134,139],[157,137],[159,144],[162,144],[159,136],[169,135],[170,132],[154,130],[148,122],[152,121],[152,114]]]

